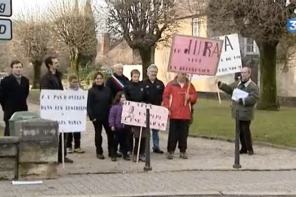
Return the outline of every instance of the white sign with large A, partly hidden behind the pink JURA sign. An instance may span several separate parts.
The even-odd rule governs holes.
[[[240,72],[242,68],[242,60],[238,34],[234,33],[214,38],[223,40],[222,52],[216,76]],[[205,77],[209,76],[194,75],[193,79],[200,79]]]

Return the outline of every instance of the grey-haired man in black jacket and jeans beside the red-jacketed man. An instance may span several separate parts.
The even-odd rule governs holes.
[[[143,80],[146,90],[146,103],[153,105],[161,105],[162,94],[164,91],[164,84],[162,81],[157,79],[158,68],[156,65],[150,65],[147,68],[148,78]],[[163,154],[163,151],[159,148],[159,136],[158,130],[152,130],[152,140],[153,140],[153,152]]]

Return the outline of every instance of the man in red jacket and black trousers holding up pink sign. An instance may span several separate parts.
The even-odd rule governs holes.
[[[187,88],[189,87],[189,92]],[[184,73],[178,73],[177,77],[169,82],[164,89],[163,105],[169,109],[170,131],[168,139],[168,157],[174,158],[174,152],[179,143],[180,158],[187,159],[188,123],[191,119],[191,105],[196,102],[197,94],[194,86]],[[186,100],[186,105],[185,105]]]

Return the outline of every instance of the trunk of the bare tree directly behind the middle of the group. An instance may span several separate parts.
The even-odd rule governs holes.
[[[147,78],[147,68],[154,62],[154,47],[140,48],[139,54],[142,60],[143,79]]]

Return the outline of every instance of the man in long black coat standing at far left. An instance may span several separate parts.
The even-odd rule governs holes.
[[[17,111],[28,111],[29,79],[22,76],[23,64],[14,60],[11,74],[0,81],[0,104],[4,111],[4,136],[9,136],[9,119]]]

